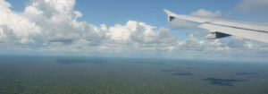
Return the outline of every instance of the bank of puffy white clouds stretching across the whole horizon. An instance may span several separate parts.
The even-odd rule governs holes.
[[[267,46],[243,38],[200,40],[195,36],[205,36],[206,32],[189,31],[188,38],[178,40],[170,30],[140,21],[127,21],[112,27],[77,21],[82,13],[75,11],[74,5],[75,0],[30,0],[23,13],[16,13],[10,9],[11,4],[0,0],[0,48],[180,58],[267,56]],[[191,14],[204,17],[222,15],[220,11],[213,13],[204,9]],[[195,26],[188,21],[176,25],[180,28]]]

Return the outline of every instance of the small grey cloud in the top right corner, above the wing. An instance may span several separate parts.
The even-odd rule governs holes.
[[[267,12],[268,0],[242,0],[238,7],[244,12],[254,10],[264,10]]]

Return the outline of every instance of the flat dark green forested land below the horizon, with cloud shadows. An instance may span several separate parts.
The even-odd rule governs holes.
[[[268,64],[0,56],[0,94],[267,94]]]

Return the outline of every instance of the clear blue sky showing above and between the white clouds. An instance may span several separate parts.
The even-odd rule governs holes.
[[[17,12],[24,11],[28,0],[6,0],[13,4],[12,9]],[[144,21],[154,26],[168,26],[166,24],[163,9],[168,9],[174,13],[189,14],[198,9],[209,11],[221,11],[224,18],[239,21],[263,21],[259,16],[267,16],[268,13],[254,12],[244,13],[239,11],[238,4],[242,0],[78,0],[75,10],[83,13],[80,21],[88,21],[94,24],[105,23],[112,26],[115,23],[125,23],[126,21]],[[257,17],[256,17],[257,16]],[[254,18],[255,17],[255,18]]]

